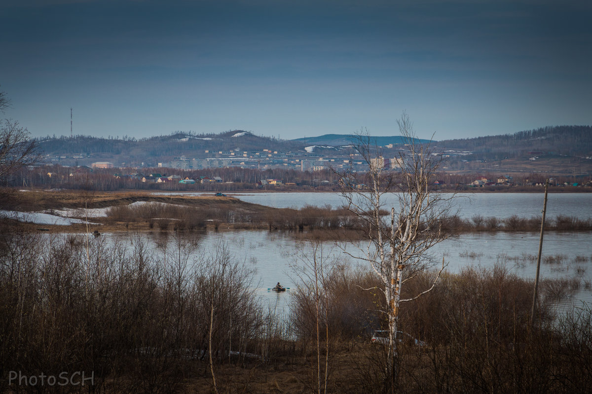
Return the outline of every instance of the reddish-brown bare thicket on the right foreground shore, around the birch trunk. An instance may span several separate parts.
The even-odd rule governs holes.
[[[426,297],[401,307],[398,362],[389,383],[387,345],[368,344],[374,330],[388,329],[384,296],[365,290],[381,285],[379,279],[339,265],[326,275],[330,280],[318,290],[323,297],[310,278],[293,295],[292,313],[298,340],[309,351],[317,346],[321,319],[330,392],[585,393],[592,387],[592,308],[556,311],[555,302],[570,289],[557,292],[554,280],[544,281],[530,328],[532,281],[501,265],[446,273]],[[403,297],[431,284],[435,275],[417,275]],[[353,367],[344,366],[345,359]]]

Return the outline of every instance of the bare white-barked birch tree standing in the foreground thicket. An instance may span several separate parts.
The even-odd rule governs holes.
[[[454,197],[432,190],[441,156],[433,154],[430,144],[420,144],[406,113],[397,123],[406,146],[398,157],[390,159],[394,162],[392,169],[385,166],[387,161],[379,147],[372,145],[368,132],[360,132],[356,154],[368,165],[368,171],[348,171],[340,180],[348,209],[364,226],[361,255],[348,254],[367,261],[384,285],[380,290],[388,315],[387,381],[395,373],[400,305],[433,289],[445,267],[444,260],[431,286],[408,298],[402,298],[401,291],[418,273],[436,266],[430,248],[449,236],[441,223],[451,213]]]

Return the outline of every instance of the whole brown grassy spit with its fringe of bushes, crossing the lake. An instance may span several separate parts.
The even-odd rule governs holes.
[[[344,207],[305,206],[278,209],[247,203],[233,197],[162,196],[150,193],[74,193],[67,191],[14,192],[4,200],[4,209],[44,210],[53,213],[70,209],[69,216],[88,219],[85,209],[105,209],[106,216],[89,219],[98,225],[28,226],[52,232],[194,231],[267,229],[288,230],[298,239],[355,239],[363,223]],[[140,204],[138,204],[140,203]],[[63,213],[61,213],[63,214]],[[386,211],[385,211],[386,214]],[[443,217],[442,230],[463,232],[539,232],[540,216],[507,218],[475,215]],[[591,231],[592,219],[571,216],[547,217],[546,231]]]

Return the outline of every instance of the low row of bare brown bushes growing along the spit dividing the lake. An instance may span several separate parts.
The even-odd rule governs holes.
[[[381,210],[379,214],[385,217],[388,213]],[[368,223],[363,217],[352,214],[345,207],[306,205],[301,209],[282,209],[281,213],[271,210],[264,214],[248,213],[221,207],[200,209],[197,207],[178,206],[163,203],[146,203],[112,207],[108,217],[117,222],[148,222],[150,228],[168,230],[203,229],[208,220],[217,223],[244,223],[267,226],[269,230],[366,230]],[[539,216],[530,218],[512,215],[507,218],[474,215],[465,219],[456,215],[442,215],[437,220],[437,227],[449,233],[461,232],[495,232],[522,231],[538,232],[541,219]],[[420,225],[424,229],[426,225]],[[368,231],[371,229],[368,228]],[[547,231],[590,231],[592,219],[558,215],[547,218]]]

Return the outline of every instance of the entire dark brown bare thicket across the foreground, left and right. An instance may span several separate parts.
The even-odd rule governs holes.
[[[373,273],[327,266],[321,297],[303,282],[282,321],[260,306],[252,273],[229,249],[196,255],[198,242],[171,236],[149,249],[141,237],[123,246],[2,227],[0,391],[16,390],[10,371],[85,371],[94,386],[43,392],[213,392],[213,376],[220,392],[275,393],[289,384],[314,392],[318,316],[328,391],[382,392],[386,352],[369,337],[384,328],[386,305]],[[416,276],[407,291],[432,275]],[[590,392],[592,310],[554,314],[552,302],[577,287],[558,291],[555,282],[543,282],[531,327],[532,282],[500,266],[445,275],[401,308],[397,392]]]

